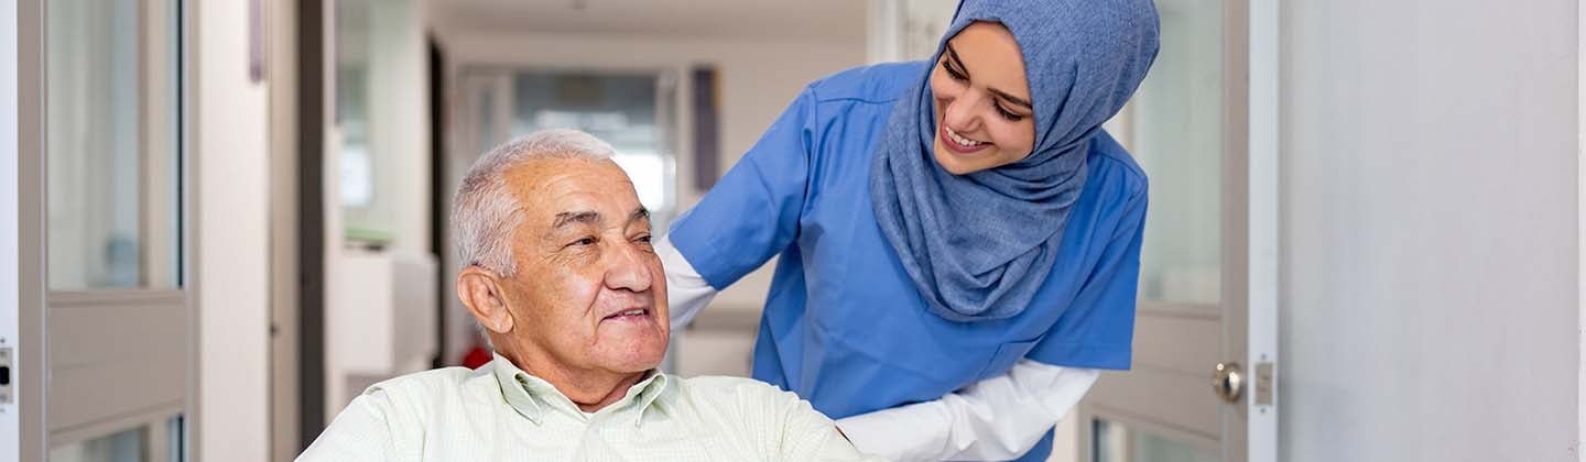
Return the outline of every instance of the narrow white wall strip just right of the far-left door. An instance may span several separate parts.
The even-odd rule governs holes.
[[[197,5],[198,451],[268,456],[266,93],[247,74],[247,2]]]

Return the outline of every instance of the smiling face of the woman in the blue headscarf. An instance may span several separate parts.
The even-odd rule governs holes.
[[[974,22],[947,41],[931,71],[933,155],[952,174],[1015,163],[1036,144],[1029,79],[1018,43],[996,22]]]

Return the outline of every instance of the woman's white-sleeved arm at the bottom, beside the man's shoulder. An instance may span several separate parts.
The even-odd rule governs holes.
[[[1094,369],[1020,361],[937,400],[837,421],[860,451],[890,460],[1010,460],[1034,448],[1096,383]]]

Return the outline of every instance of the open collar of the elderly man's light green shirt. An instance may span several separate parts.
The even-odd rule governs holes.
[[[563,396],[561,391],[557,391],[557,388],[549,381],[523,372],[514,365],[512,361],[501,356],[501,353],[493,353],[493,356],[495,359],[490,361],[490,372],[501,386],[501,397],[506,399],[506,403],[511,405],[512,410],[523,418],[528,418],[528,421],[539,424],[547,408],[563,408],[579,418],[587,416],[577,405],[573,403],[573,400]],[[601,408],[601,411],[619,413],[633,408],[633,419],[634,424],[638,424],[644,416],[644,411],[655,405],[655,402],[668,389],[669,381],[671,378],[668,378],[666,373],[650,369],[644,373],[644,378],[639,380],[639,383],[628,388],[628,392],[620,400]]]

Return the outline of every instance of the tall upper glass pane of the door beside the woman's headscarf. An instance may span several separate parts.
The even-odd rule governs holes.
[[[1221,0],[1156,2],[1161,52],[1120,141],[1151,179],[1140,297],[1221,301],[1224,76]]]

